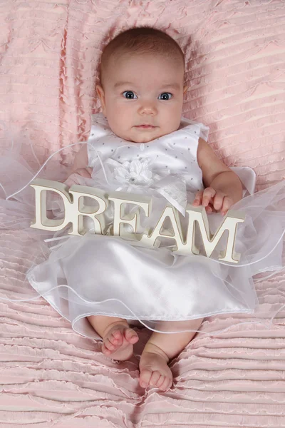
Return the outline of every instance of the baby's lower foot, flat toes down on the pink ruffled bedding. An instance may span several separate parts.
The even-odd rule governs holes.
[[[152,385],[166,391],[172,387],[172,372],[167,363],[169,358],[152,343],[147,343],[140,357],[140,386]]]

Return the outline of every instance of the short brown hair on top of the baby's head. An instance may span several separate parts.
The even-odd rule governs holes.
[[[167,55],[177,61],[180,56],[185,66],[185,57],[179,44],[163,31],[153,29],[149,26],[128,29],[115,36],[103,49],[100,60],[99,80],[103,84],[103,74],[107,68],[108,61],[113,55],[125,54],[159,54]],[[179,59],[178,59],[179,61]]]

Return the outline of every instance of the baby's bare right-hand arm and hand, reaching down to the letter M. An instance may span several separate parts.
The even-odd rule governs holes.
[[[234,203],[242,199],[241,180],[217,158],[212,148],[202,138],[199,138],[197,161],[202,170],[205,189],[197,192],[193,205],[202,203],[207,213],[222,210],[222,214],[226,214]]]

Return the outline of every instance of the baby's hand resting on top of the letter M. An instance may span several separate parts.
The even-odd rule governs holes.
[[[227,213],[227,210],[234,205],[234,201],[225,193],[219,190],[214,190],[211,187],[199,190],[195,195],[193,206],[204,205],[207,213],[217,213],[222,211],[222,215]]]

